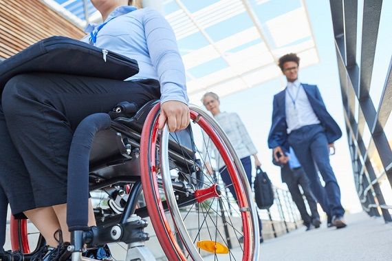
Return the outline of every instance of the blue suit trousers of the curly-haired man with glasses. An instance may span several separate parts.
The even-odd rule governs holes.
[[[340,188],[329,163],[328,142],[321,125],[307,125],[289,135],[289,144],[310,180],[310,187],[323,209],[328,207],[331,216],[345,213],[340,203]],[[325,182],[320,186],[318,171]],[[325,193],[326,192],[326,193]]]

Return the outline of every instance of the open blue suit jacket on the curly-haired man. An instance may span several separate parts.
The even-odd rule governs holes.
[[[307,99],[316,114],[318,121],[325,128],[328,143],[334,143],[335,140],[342,136],[342,132],[336,121],[329,115],[327,108],[321,98],[320,91],[316,85],[307,85],[301,83],[303,90],[305,90]],[[274,96],[274,109],[272,112],[272,126],[270,134],[268,135],[268,147],[283,147],[289,149],[287,142],[287,123],[286,123],[286,92],[285,90],[279,92]]]

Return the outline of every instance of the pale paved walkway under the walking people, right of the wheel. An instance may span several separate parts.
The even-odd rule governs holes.
[[[261,245],[263,261],[392,260],[392,225],[366,213],[347,215],[345,229],[292,231]]]

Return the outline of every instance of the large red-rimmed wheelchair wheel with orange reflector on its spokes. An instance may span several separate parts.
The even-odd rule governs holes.
[[[190,106],[191,127],[169,134],[157,129],[159,113],[156,105],[144,122],[140,165],[149,216],[168,260],[258,260],[256,208],[224,131]]]

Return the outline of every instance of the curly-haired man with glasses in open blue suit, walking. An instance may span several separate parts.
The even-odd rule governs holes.
[[[289,147],[294,149],[309,176],[314,195],[324,211],[331,215],[332,225],[346,227],[340,188],[329,163],[329,149],[334,149],[334,142],[342,132],[327,112],[317,86],[298,81],[298,65],[296,54],[286,54],[279,59],[287,87],[274,96],[268,147],[273,149],[274,158],[279,163]],[[325,189],[320,185],[317,168]]]

